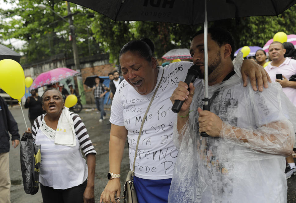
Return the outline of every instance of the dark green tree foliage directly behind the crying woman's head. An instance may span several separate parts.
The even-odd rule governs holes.
[[[200,26],[194,28],[161,22],[114,22],[101,14],[95,15],[92,24],[94,37],[102,44],[105,51],[110,53],[111,62],[118,59],[120,49],[124,44],[143,37],[153,41],[155,56],[158,58],[171,49],[189,47],[190,37],[188,36],[192,36],[196,28]]]

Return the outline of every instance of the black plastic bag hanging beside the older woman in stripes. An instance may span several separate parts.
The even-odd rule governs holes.
[[[38,192],[40,174],[40,145],[33,142],[32,133],[25,132],[20,140],[21,170],[24,190],[27,194],[34,195]]]

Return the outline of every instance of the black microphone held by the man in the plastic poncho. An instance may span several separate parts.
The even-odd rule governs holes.
[[[188,91],[189,89],[189,84],[193,83],[194,80],[199,76],[199,66],[198,65],[193,65],[188,69],[187,76],[185,79],[185,83],[188,85]],[[180,100],[175,100],[175,103],[173,104],[172,111],[174,113],[179,113],[181,106],[183,105],[184,101]]]

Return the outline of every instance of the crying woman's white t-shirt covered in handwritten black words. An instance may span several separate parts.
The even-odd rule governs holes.
[[[161,80],[161,85],[145,119],[135,162],[135,176],[139,178],[172,178],[178,150],[172,138],[173,123],[177,114],[171,110],[173,104],[170,97],[179,81],[185,80],[187,71],[192,65],[192,62],[176,62],[159,69],[157,84]],[[161,78],[163,70],[164,75]],[[201,80],[197,79],[194,85],[201,84],[200,82]],[[126,80],[123,80],[112,101],[110,122],[125,126],[128,131],[131,169],[142,119],[155,89],[147,95],[140,95]]]

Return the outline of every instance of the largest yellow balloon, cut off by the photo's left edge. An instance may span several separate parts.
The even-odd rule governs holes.
[[[10,97],[21,101],[25,94],[25,74],[21,65],[12,59],[0,61],[0,88]]]

